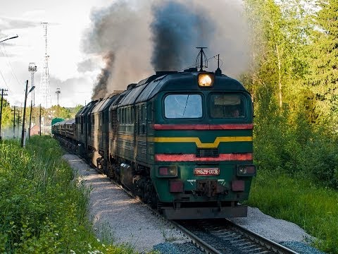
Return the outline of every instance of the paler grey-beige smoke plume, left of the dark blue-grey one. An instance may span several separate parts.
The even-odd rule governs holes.
[[[114,90],[125,90],[130,83],[151,74],[149,9],[149,4],[135,0],[117,1],[108,8],[92,12],[92,28],[83,41],[84,52],[102,57],[111,52],[108,55],[113,56],[109,61],[105,60],[98,80],[106,83],[97,83],[93,99],[94,95],[103,97],[104,91],[109,94]]]

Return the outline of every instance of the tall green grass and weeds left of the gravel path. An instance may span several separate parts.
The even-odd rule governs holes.
[[[134,253],[96,238],[88,191],[62,155],[49,136],[33,136],[26,148],[0,142],[0,253]]]

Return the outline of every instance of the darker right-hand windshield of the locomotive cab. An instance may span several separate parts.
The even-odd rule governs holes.
[[[246,98],[243,95],[215,93],[210,97],[210,114],[214,119],[245,117]]]

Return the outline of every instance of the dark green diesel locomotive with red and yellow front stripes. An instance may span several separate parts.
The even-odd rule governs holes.
[[[169,219],[245,217],[249,92],[221,73],[156,73],[75,118],[77,151]]]

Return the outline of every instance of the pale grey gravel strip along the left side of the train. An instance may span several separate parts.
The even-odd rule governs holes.
[[[165,241],[187,241],[170,224],[157,217],[145,205],[115,186],[108,177],[98,174],[76,155],[64,155],[89,193],[89,217],[97,236],[111,236],[115,243],[127,243],[142,252]],[[106,236],[105,236],[106,237]]]

